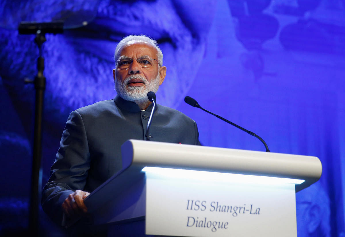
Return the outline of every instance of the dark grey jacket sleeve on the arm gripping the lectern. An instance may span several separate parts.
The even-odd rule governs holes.
[[[81,115],[73,111],[62,133],[60,148],[43,188],[43,210],[58,224],[62,220],[62,203],[75,190],[83,190],[90,168],[90,153]]]

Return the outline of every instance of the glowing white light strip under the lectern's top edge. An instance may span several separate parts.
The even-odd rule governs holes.
[[[304,179],[280,178],[258,175],[244,175],[218,173],[209,171],[195,171],[189,169],[173,169],[145,166],[141,170],[159,178],[195,179],[198,181],[216,181],[231,183],[260,183],[260,184],[302,184]]]

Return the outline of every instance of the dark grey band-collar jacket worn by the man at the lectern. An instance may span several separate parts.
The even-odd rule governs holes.
[[[61,204],[75,190],[92,192],[121,168],[121,145],[146,140],[152,104],[141,111],[119,96],[73,111],[62,133],[51,176],[42,193],[42,207],[57,222]],[[200,145],[194,120],[157,104],[150,126],[151,141]]]

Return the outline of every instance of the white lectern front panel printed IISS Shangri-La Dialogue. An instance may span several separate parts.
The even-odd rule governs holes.
[[[146,175],[146,234],[297,236],[294,184]]]

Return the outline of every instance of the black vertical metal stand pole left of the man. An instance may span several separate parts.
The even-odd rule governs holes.
[[[46,41],[45,35],[40,30],[37,31],[35,43],[38,45],[40,56],[37,59],[38,73],[33,81],[36,89],[35,102],[35,125],[33,138],[33,157],[31,173],[31,195],[29,207],[29,229],[33,236],[39,235],[39,199],[41,194],[40,168],[42,157],[42,117],[43,117],[43,97],[46,89],[46,78],[43,75],[44,58],[42,58],[42,44]]]

